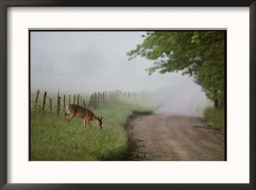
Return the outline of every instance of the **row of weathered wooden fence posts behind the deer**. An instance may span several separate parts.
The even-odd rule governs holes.
[[[38,89],[35,94],[30,95],[31,113],[40,113],[42,115],[60,115],[67,112],[68,104],[77,104],[85,108],[97,109],[101,104],[116,100],[118,97],[136,97],[136,93],[115,91],[94,92],[89,97],[82,97],[79,93],[74,95],[58,95],[56,97],[48,97],[47,91],[40,93]]]

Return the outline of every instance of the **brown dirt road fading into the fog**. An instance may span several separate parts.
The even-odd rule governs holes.
[[[198,97],[186,100],[188,104],[184,104],[183,108],[177,104],[177,99],[166,101],[153,115],[136,114],[129,120],[126,127],[129,136],[128,160],[225,160],[223,132],[207,127],[202,116],[196,113],[195,106],[191,106],[195,105]],[[177,113],[175,105],[178,106]],[[185,111],[182,112],[182,109]]]

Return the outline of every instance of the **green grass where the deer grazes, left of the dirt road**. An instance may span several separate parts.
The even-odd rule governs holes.
[[[102,130],[91,121],[83,127],[83,119],[74,117],[65,124],[63,113],[40,115],[31,113],[31,161],[116,161],[127,151],[124,126],[134,111],[148,113],[156,105],[147,107],[125,100],[111,101],[97,109],[102,116]]]

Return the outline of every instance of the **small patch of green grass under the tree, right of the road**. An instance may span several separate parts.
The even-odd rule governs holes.
[[[221,107],[216,109],[214,107],[207,107],[204,109],[204,118],[208,125],[224,131],[225,129],[225,109]]]

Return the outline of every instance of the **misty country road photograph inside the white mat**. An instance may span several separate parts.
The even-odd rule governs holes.
[[[30,30],[29,161],[227,161],[225,30]]]

